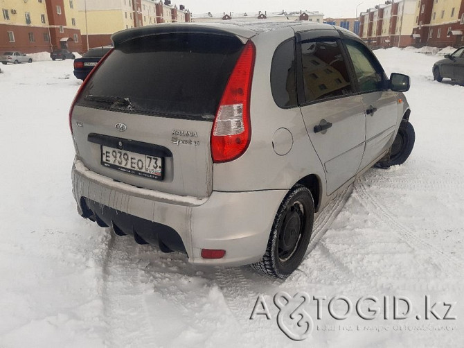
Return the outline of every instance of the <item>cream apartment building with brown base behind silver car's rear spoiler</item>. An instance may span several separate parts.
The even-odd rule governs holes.
[[[123,29],[190,21],[190,12],[170,0],[79,0],[79,19],[87,50],[111,44],[111,35]]]

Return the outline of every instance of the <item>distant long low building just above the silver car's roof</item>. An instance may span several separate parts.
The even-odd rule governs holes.
[[[196,22],[212,22],[212,21],[226,21],[229,19],[238,19],[244,21],[255,21],[268,19],[271,21],[314,21],[318,23],[323,22],[323,13],[317,11],[292,11],[286,12],[223,12],[220,13],[202,13],[199,15],[192,15],[192,21]]]

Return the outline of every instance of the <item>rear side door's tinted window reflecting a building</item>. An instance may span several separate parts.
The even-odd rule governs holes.
[[[353,92],[350,74],[337,40],[302,42],[301,64],[306,103]]]

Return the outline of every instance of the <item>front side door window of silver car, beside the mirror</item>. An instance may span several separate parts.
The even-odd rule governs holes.
[[[346,40],[345,44],[355,67],[359,91],[373,92],[384,89],[384,71],[373,57],[373,53],[359,42]]]

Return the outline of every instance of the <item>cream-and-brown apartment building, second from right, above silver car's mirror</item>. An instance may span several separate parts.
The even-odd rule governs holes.
[[[416,0],[400,0],[361,12],[359,36],[372,47],[410,46],[415,10]]]

